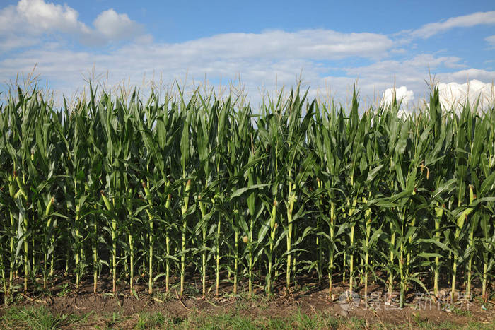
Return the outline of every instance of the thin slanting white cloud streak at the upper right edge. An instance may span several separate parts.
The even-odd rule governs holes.
[[[495,25],[495,11],[484,11],[448,18],[442,22],[428,23],[410,32],[412,37],[429,38],[453,28],[469,28],[474,25]]]

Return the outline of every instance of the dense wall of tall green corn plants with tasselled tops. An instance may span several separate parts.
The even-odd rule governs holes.
[[[91,86],[90,86],[91,88]],[[489,297],[495,108],[400,103],[361,112],[299,89],[260,109],[195,92],[0,103],[5,300],[68,276],[112,293],[146,283],[202,295],[290,293],[298,276]],[[145,102],[146,101],[146,102]],[[213,283],[213,284],[211,284]],[[479,291],[478,291],[479,292]]]

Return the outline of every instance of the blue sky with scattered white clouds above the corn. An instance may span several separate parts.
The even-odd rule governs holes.
[[[40,85],[67,95],[93,70],[108,85],[240,76],[253,100],[301,72],[311,95],[339,100],[358,81],[367,102],[393,86],[418,102],[429,73],[488,95],[495,1],[1,1],[2,88],[35,64]]]

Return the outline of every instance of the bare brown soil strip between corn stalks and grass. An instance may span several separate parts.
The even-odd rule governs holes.
[[[123,282],[117,287],[117,294],[112,295],[112,280],[110,277],[99,278],[98,294],[93,293],[92,278],[84,278],[81,287],[75,290],[74,281],[65,278],[51,283],[49,294],[37,293],[24,296],[21,301],[16,300],[16,306],[45,305],[57,314],[88,314],[92,312],[101,317],[108,317],[119,311],[122,317],[132,317],[140,312],[161,312],[183,319],[188,314],[236,314],[250,317],[286,317],[301,311],[306,314],[325,313],[333,317],[360,317],[366,319],[366,324],[411,324],[412,322],[429,322],[441,324],[449,321],[453,324],[467,324],[467,322],[487,323],[495,321],[495,302],[483,304],[481,300],[464,301],[462,304],[451,305],[448,297],[442,300],[430,300],[426,296],[409,293],[407,306],[399,309],[397,297],[389,301],[384,296],[386,288],[383,285],[368,285],[368,307],[363,301],[362,286],[356,288],[361,296],[359,302],[349,305],[348,300],[342,300],[342,294],[348,290],[348,285],[337,283],[333,287],[334,299],[328,297],[328,284],[318,284],[318,278],[303,276],[298,278],[297,286],[292,293],[286,294],[284,283],[275,283],[274,295],[267,299],[261,287],[255,286],[255,298],[249,299],[247,283],[241,282],[239,294],[232,295],[231,282],[221,283],[220,295],[214,295],[214,282],[210,281],[207,288],[209,294],[201,295],[201,281],[199,278],[190,278],[185,295],[179,297],[176,284],[171,285],[169,293],[165,293],[164,284],[158,281],[153,286],[153,294],[148,294],[147,283],[144,278],[134,285],[136,295],[129,293],[129,286]],[[177,279],[175,279],[176,281]],[[21,283],[21,280],[19,280]],[[443,289],[446,293],[450,291]],[[475,295],[479,295],[479,289]],[[342,296],[341,296],[342,295]],[[446,294],[447,295],[447,294]],[[339,300],[339,297],[341,300]],[[3,300],[3,297],[0,298]],[[0,310],[0,316],[4,310]],[[119,326],[126,328],[125,324]],[[129,325],[130,326],[130,325]]]

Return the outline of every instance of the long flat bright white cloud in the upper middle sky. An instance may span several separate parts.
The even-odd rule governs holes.
[[[333,30],[301,30],[290,33],[271,30],[263,33],[225,33],[182,44],[157,45],[161,51],[179,51],[185,56],[228,58],[308,58],[383,57],[392,40],[375,33],[339,33]],[[165,49],[166,48],[166,49]]]

